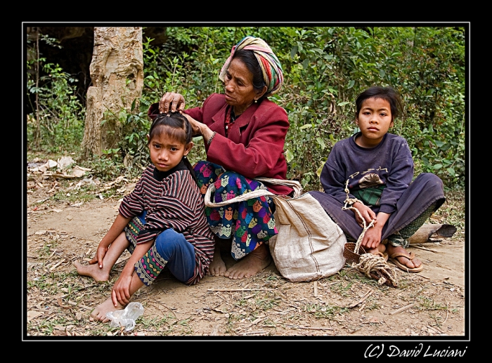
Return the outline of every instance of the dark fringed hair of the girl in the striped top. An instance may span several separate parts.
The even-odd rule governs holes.
[[[150,130],[148,131],[149,137],[147,145],[150,145],[150,141],[161,133],[167,133],[170,138],[174,138],[184,145],[188,145],[193,138],[193,130],[190,122],[178,111],[169,112],[167,114],[158,114],[157,117],[155,117],[150,126]],[[193,171],[193,166],[191,166],[188,158],[183,157],[182,161],[190,171],[191,176],[193,176],[193,180],[198,184],[195,171]]]

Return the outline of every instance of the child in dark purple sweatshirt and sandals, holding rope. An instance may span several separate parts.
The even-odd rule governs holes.
[[[310,193],[349,241],[361,235],[363,220],[366,226],[373,222],[361,242],[365,251],[389,256],[401,270],[420,272],[422,262],[406,251],[408,238],[446,199],[434,174],[421,173],[413,180],[406,140],[388,133],[402,110],[400,95],[391,87],[373,86],[358,95],[356,125],[361,131],[333,146],[321,172],[325,192]]]

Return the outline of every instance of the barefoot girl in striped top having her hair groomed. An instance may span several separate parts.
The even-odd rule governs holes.
[[[181,282],[196,284],[213,259],[214,237],[186,158],[193,147],[188,120],[179,112],[160,114],[147,138],[152,164],[124,197],[89,265],[74,263],[79,275],[103,282],[124,250],[131,253],[111,296],[93,310],[91,321],[108,322],[106,313],[124,309],[135,291],[152,284],[164,266]]]

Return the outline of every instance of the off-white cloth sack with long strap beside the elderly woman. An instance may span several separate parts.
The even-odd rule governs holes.
[[[210,201],[213,184],[205,194],[205,205],[225,206],[234,202],[267,195],[273,199],[278,235],[268,239],[273,262],[280,275],[291,282],[306,282],[334,275],[345,265],[343,256],[347,238],[311,194],[301,194],[302,187],[294,180],[257,178],[271,184],[294,188],[294,197],[280,197],[268,190],[253,190],[226,202]]]

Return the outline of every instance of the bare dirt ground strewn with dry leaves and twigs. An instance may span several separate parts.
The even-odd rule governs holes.
[[[207,276],[195,286],[163,273],[134,296],[144,312],[133,330],[90,322],[91,310],[108,296],[129,255],[124,253],[105,284],[78,276],[72,262],[93,257],[117,215],[121,197],[75,204],[53,202],[50,196],[60,192],[53,185],[49,178],[30,178],[27,183],[27,340],[40,336],[432,336],[460,340],[467,336],[467,257],[462,228],[439,242],[411,245],[410,251],[425,268],[420,273],[396,269],[397,287],[379,285],[348,264],[316,282],[288,282],[273,263],[248,279]],[[233,263],[232,258],[224,258],[228,265]]]

